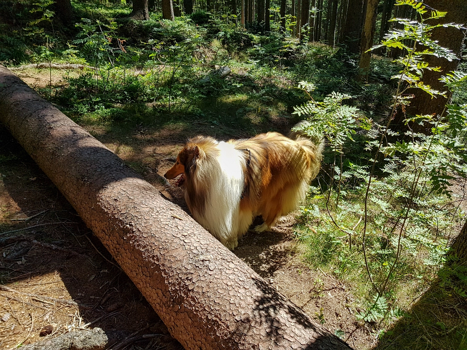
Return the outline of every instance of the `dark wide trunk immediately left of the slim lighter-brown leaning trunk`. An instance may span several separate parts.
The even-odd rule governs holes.
[[[363,0],[349,0],[342,42],[350,53],[360,52],[362,32]]]

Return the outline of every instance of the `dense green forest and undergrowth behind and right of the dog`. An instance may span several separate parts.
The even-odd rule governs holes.
[[[301,263],[350,286],[362,348],[465,349],[466,23],[464,0],[4,0],[0,62],[122,147],[307,120]]]

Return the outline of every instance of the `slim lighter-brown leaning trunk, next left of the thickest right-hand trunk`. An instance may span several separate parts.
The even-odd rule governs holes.
[[[376,10],[378,0],[368,0],[366,4],[365,24],[361,33],[360,47],[360,71],[358,74],[359,80],[363,81],[368,78],[370,70],[371,52],[367,52],[373,46],[374,26],[376,21]]]

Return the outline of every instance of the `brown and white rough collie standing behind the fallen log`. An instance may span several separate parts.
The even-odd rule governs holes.
[[[234,249],[257,215],[265,231],[296,209],[319,171],[321,147],[277,132],[250,139],[188,140],[164,176],[182,174],[185,200],[193,217],[229,249]]]

